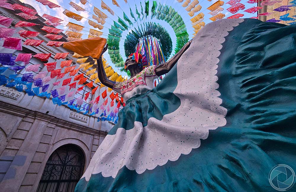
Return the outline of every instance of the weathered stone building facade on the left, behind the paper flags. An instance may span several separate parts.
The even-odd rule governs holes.
[[[20,1],[9,2],[33,8]],[[1,7],[0,15],[13,18],[13,25],[22,20],[12,10]],[[34,23],[44,26],[46,25],[44,21],[40,17],[35,19]],[[36,25],[16,29],[44,32],[40,30],[41,27]],[[48,62],[54,62],[56,60],[53,57],[56,53],[70,52],[62,47],[46,46],[49,39],[43,35],[34,38],[44,40],[44,43],[38,47],[23,45],[22,51],[16,51],[0,46],[0,53],[14,55],[52,53]],[[66,36],[62,41],[66,41]],[[0,45],[2,43],[3,41]],[[67,59],[76,60],[71,54]],[[30,64],[42,64],[42,62],[32,58]],[[75,62],[73,64],[78,66]],[[45,70],[46,67],[41,65],[40,71]],[[12,72],[5,71],[7,74],[4,74],[9,75]],[[22,72],[25,71],[20,71],[20,74]],[[81,70],[78,73],[86,75],[86,71]],[[62,81],[63,78],[59,80]],[[89,82],[88,79],[85,84]],[[95,86],[98,85],[100,83]],[[52,83],[50,86],[53,86]],[[49,87],[49,90],[51,89],[52,87]],[[98,89],[94,95],[90,95],[90,99],[96,98],[99,92]],[[83,115],[71,110],[67,105],[54,105],[50,98],[29,96],[24,91],[18,92],[13,87],[2,85],[0,87],[0,191],[73,191],[99,144],[114,125],[108,121],[97,122],[98,115]],[[70,176],[65,173],[66,171]]]

